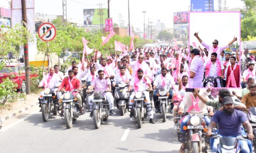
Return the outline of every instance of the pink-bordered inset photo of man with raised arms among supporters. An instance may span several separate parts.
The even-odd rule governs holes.
[[[189,13],[189,87],[240,87],[240,12]]]

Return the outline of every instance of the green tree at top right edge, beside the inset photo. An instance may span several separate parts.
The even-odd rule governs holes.
[[[248,40],[248,36],[256,36],[256,0],[241,0],[245,3],[245,11],[241,10],[241,40]]]

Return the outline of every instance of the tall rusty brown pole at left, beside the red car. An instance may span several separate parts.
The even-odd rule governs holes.
[[[23,26],[27,29],[27,16],[26,16],[26,0],[21,0],[21,11]],[[27,37],[26,34],[23,37]],[[26,94],[30,94],[30,77],[29,77],[29,60],[28,60],[28,39],[24,43],[24,62],[25,62],[25,76],[26,76]]]

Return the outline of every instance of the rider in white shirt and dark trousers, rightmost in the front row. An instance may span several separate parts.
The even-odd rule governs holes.
[[[159,87],[161,85],[167,85],[168,89],[170,89],[170,87],[173,87],[175,84],[173,77],[167,73],[167,68],[163,67],[161,69],[161,74],[157,75],[154,84],[153,84],[153,90],[154,90],[154,96],[153,96],[153,100],[154,100],[154,105],[155,105],[155,112],[159,113],[160,111],[160,103],[158,100],[158,96],[157,96],[157,90],[156,87]],[[173,91],[169,90],[169,98],[171,98],[173,96]]]

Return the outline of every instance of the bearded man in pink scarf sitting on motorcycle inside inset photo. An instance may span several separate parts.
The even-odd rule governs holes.
[[[217,53],[211,53],[211,59],[205,62],[205,75],[206,77],[217,77],[221,76],[221,78],[224,78],[224,66],[221,64],[221,62],[217,59]],[[217,79],[218,86],[220,85],[220,80]]]

